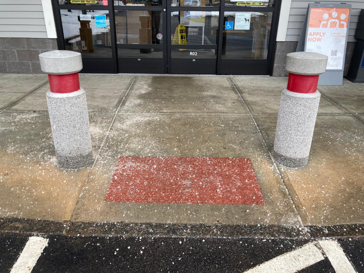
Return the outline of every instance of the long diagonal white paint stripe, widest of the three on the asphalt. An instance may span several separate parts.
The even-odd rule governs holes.
[[[260,264],[246,273],[294,273],[322,260],[323,254],[312,242]]]

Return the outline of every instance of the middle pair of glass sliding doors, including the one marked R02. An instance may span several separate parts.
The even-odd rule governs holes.
[[[217,3],[153,1],[114,7],[118,72],[216,74]]]

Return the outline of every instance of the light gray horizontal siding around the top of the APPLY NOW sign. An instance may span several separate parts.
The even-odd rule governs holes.
[[[301,29],[303,21],[305,19],[307,6],[309,3],[314,3],[315,1],[308,0],[292,0],[291,8],[289,12],[288,26],[287,26],[287,36],[286,41],[298,41],[301,34]],[[364,0],[331,0],[331,1],[316,1],[320,3],[347,3],[351,4],[351,17],[349,22],[349,36],[348,42],[356,41],[354,38],[356,25],[359,18],[360,9],[364,9]]]

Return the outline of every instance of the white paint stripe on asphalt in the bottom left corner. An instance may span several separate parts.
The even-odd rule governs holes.
[[[48,239],[42,237],[30,237],[10,273],[32,272],[33,267],[47,244]]]

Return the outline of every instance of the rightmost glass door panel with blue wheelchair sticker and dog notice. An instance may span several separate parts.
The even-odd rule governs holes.
[[[224,3],[218,74],[270,74],[278,3],[274,0],[225,0]]]

